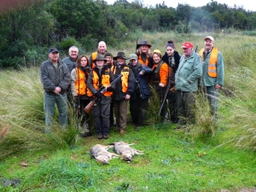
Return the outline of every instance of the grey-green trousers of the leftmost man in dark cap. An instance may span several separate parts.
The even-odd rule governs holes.
[[[55,104],[59,111],[60,124],[63,128],[67,125],[67,95],[56,95],[44,92],[45,132],[50,132],[50,127],[53,124]]]

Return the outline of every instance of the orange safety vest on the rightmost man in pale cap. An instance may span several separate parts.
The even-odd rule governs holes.
[[[201,55],[201,61],[204,63],[204,56],[203,56],[204,48],[200,50],[199,55]],[[210,55],[210,60],[208,63],[208,75],[211,78],[217,78],[217,61],[218,61],[218,49],[212,48],[212,52]]]

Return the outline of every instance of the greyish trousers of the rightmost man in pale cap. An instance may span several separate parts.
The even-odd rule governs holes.
[[[207,86],[207,98],[210,102],[212,115],[218,118],[218,90],[214,86]]]

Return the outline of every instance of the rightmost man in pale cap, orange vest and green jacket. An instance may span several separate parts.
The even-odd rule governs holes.
[[[212,115],[218,117],[218,90],[224,84],[224,59],[217,48],[213,47],[214,38],[205,38],[205,47],[199,52],[201,55],[202,78],[201,85],[205,88],[210,102]]]

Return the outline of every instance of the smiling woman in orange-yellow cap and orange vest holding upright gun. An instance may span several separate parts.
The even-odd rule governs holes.
[[[162,100],[164,99],[164,95],[166,93],[166,85],[167,85],[169,68],[166,62],[161,60],[161,52],[159,49],[154,49],[153,61],[154,61],[154,66],[152,67],[153,75],[152,75],[151,82],[153,84],[154,89],[160,96],[160,102],[162,102]],[[160,113],[162,121],[166,121],[166,114],[167,114],[167,102],[165,101]]]

